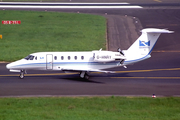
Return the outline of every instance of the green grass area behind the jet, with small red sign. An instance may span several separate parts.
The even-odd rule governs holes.
[[[41,51],[105,49],[106,19],[98,15],[0,11],[0,21],[20,20],[20,25],[0,24],[0,61],[14,61]]]

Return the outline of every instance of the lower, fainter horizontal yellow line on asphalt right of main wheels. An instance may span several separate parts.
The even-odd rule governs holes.
[[[110,77],[118,79],[180,79],[180,77]]]

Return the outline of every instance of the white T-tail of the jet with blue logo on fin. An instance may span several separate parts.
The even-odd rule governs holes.
[[[151,57],[150,54],[160,34],[173,33],[173,31],[157,28],[147,28],[141,32],[141,36],[125,51],[127,59],[124,64],[139,62]]]

